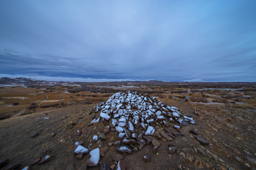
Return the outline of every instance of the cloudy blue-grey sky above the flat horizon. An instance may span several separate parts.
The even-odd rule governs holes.
[[[256,0],[0,0],[0,77],[256,82]]]

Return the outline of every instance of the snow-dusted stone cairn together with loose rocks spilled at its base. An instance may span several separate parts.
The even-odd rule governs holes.
[[[157,136],[158,138],[163,136],[164,140],[171,141],[175,136],[183,135],[183,132],[180,130],[181,126],[195,124],[192,118],[182,116],[178,108],[167,106],[148,94],[137,94],[136,92],[130,91],[126,93],[115,93],[108,101],[102,102],[94,107],[94,110],[95,115],[97,113],[100,114],[95,116],[90,125],[96,125],[100,122],[108,125],[104,129],[104,133],[99,135],[99,138],[106,140],[104,134],[114,131],[120,139],[114,145],[117,146],[116,150],[121,153],[132,153],[133,151],[141,150],[145,144],[149,143],[153,145],[153,152],[157,153],[160,142],[153,136]],[[169,128],[171,123],[176,129],[175,132],[172,131],[172,128]],[[161,135],[159,133],[155,135],[155,130],[161,125],[166,127],[166,132],[161,131]],[[94,136],[93,142],[97,142],[97,140],[98,136]],[[78,142],[77,145],[79,145]],[[84,147],[78,146],[77,148],[81,152],[75,152],[76,154],[89,152]],[[170,152],[171,149],[169,148]],[[99,152],[97,150],[96,155],[98,158]],[[99,160],[92,164],[96,165],[98,162]],[[125,162],[121,160],[117,166],[125,166],[121,165],[123,163]]]

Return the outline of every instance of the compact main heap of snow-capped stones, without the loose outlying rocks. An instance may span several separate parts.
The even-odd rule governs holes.
[[[107,102],[97,105],[95,112],[100,111],[91,124],[103,122],[111,123],[111,127],[119,134],[119,138],[124,138],[124,144],[136,143],[134,139],[140,136],[139,127],[145,132],[142,135],[154,136],[155,127],[163,124],[170,127],[171,123],[177,123],[174,128],[180,128],[195,121],[187,116],[183,116],[178,108],[167,106],[155,97],[147,94],[139,95],[136,92],[115,93]],[[107,131],[107,130],[106,130]]]

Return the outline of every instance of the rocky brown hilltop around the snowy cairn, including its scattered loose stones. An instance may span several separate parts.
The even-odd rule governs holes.
[[[132,131],[131,135],[136,132],[137,135],[127,138],[127,133],[123,131],[123,138],[128,140],[126,142],[122,136],[122,139],[119,138],[116,131],[122,123],[120,126],[119,123],[112,124],[114,114],[110,114],[108,121],[103,121],[100,118],[102,108],[95,112],[95,104],[55,108],[1,120],[0,170],[12,169],[11,165],[19,169],[30,165],[28,169],[32,170],[99,170],[104,165],[106,170],[108,166],[116,169],[118,165],[121,169],[125,166],[126,170],[255,169],[255,111],[194,103],[164,104],[179,109],[176,110],[180,112],[177,118],[185,119],[184,116],[187,116],[187,122],[191,123],[188,118],[192,118],[195,124],[182,126],[173,114],[168,116],[162,112],[165,119],[156,121],[153,115],[153,122],[147,123],[149,119],[144,119],[144,123],[148,124],[144,129],[142,125],[136,126],[130,115],[127,117],[134,130],[129,131]],[[173,113],[171,110],[164,112]],[[98,118],[99,122],[92,123]],[[118,119],[122,119],[121,116]],[[163,121],[167,121],[168,125],[164,125]],[[125,122],[128,122],[127,119]],[[141,118],[140,123],[143,123]],[[126,125],[124,127],[129,129]],[[174,125],[180,126],[180,129]],[[149,126],[154,128],[153,134],[152,129],[149,130],[150,135],[144,134],[143,131],[147,132]],[[141,139],[139,134],[142,134]],[[94,136],[98,139],[93,141]],[[120,145],[115,143],[118,141],[121,141]],[[123,145],[128,148],[127,152],[120,149]],[[9,161],[5,161],[7,159]]]

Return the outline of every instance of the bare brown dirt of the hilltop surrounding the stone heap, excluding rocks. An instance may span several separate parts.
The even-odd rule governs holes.
[[[228,167],[235,170],[249,169],[245,163],[251,167],[256,166],[247,160],[247,156],[256,158],[256,126],[255,112],[242,109],[228,108],[224,106],[202,106],[192,103],[172,103],[165,102],[168,105],[176,106],[183,115],[191,114],[197,122],[197,125],[188,125],[182,127],[181,130],[185,136],[175,137],[172,141],[177,148],[198,148],[202,145],[195,139],[195,135],[189,133],[190,129],[196,129],[200,136],[205,138],[208,146],[203,146],[211,153],[219,156]],[[73,152],[73,145],[78,140],[84,141],[84,146],[92,143],[92,137],[97,132],[103,132],[103,124],[97,124],[88,127],[92,121],[93,113],[89,114],[95,104],[91,105],[73,105],[64,108],[50,108],[46,111],[37,112],[30,115],[15,117],[0,121],[0,160],[9,159],[9,164],[22,162],[25,167],[38,157],[42,157],[49,153],[52,159],[47,163],[35,165],[32,170],[65,170],[70,164],[78,169],[89,155],[85,154],[82,160],[77,160]],[[194,114],[194,110],[199,109],[198,114]],[[45,115],[48,114],[48,115]],[[82,119],[78,119],[82,116]],[[49,119],[39,119],[48,117]],[[65,117],[65,119],[62,119]],[[73,128],[69,124],[74,121],[77,123]],[[76,130],[86,129],[85,136],[75,135]],[[163,130],[164,127],[161,126]],[[173,129],[174,130],[174,129]],[[35,132],[39,136],[30,138]],[[158,132],[158,131],[157,131]],[[51,137],[51,133],[56,136]],[[108,146],[108,142],[118,141],[118,136],[113,132],[106,134],[107,141],[103,142],[104,146]],[[60,143],[64,139],[65,142]],[[96,148],[94,144],[92,149]],[[111,153],[116,153],[115,146],[108,146],[110,149],[106,152],[101,161],[112,165],[114,161]],[[143,156],[148,155],[150,162],[143,162]],[[211,168],[204,169],[220,169],[224,166],[221,162],[209,159],[199,153],[194,154],[203,161],[208,161],[213,165]],[[239,157],[242,162],[237,161],[235,157]],[[193,163],[185,158],[180,158],[176,153],[168,153],[168,142],[162,142],[159,154],[152,153],[152,144],[145,145],[141,151],[125,154],[127,170],[177,170],[177,164],[183,166],[183,169],[197,170]],[[7,167],[7,166],[5,166]],[[5,169],[2,168],[2,169]],[[185,168],[186,167],[186,168]],[[90,167],[88,170],[99,170],[99,167]]]

